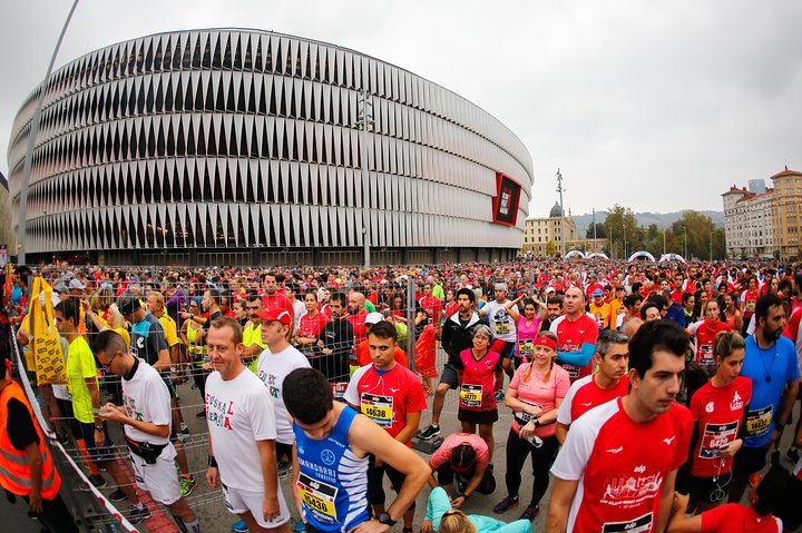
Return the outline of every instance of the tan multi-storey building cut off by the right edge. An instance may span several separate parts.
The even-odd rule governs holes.
[[[771,177],[774,184],[774,227],[782,259],[802,256],[802,172],[788,167]]]

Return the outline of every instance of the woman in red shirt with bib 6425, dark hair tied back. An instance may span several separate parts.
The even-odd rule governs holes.
[[[744,353],[741,335],[720,334],[714,352],[716,373],[691,399],[695,421],[689,447],[691,477],[687,484],[682,483],[686,486],[681,492],[689,490],[691,502],[697,503],[701,510],[726,499],[733,456],[743,445],[744,413],[752,399],[752,381],[740,375]]]

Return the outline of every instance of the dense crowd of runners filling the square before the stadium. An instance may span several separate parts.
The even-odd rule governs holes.
[[[45,289],[30,294],[36,277]],[[310,533],[397,523],[522,533],[540,514],[549,532],[802,524],[795,265],[56,265],[9,270],[3,294],[23,348],[41,332],[29,310],[52,309],[67,383],[40,385],[42,407],[134,524],[153,510],[115,461],[120,451],[180,531],[200,531],[187,500],[203,481],[184,445],[190,416],[208,427],[203,477],[235,532],[288,531],[292,516]],[[0,482],[51,531],[76,531],[41,430],[2,367]],[[195,401],[178,396],[185,382]],[[460,432],[446,435],[452,391]],[[497,443],[500,413],[512,416]],[[113,443],[110,424],[125,442]],[[413,440],[436,451],[415,453]],[[28,452],[45,467],[19,466]],[[531,496],[520,502],[524,483]],[[471,497],[492,499],[493,516],[466,515]]]

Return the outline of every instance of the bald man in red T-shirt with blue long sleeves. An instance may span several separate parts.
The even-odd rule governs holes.
[[[557,364],[568,371],[571,383],[593,374],[598,326],[585,313],[585,295],[578,287],[566,290],[563,302],[565,315],[551,323],[549,330],[557,335]]]

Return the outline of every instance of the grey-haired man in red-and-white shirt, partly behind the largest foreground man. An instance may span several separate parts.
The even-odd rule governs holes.
[[[626,375],[629,361],[629,337],[620,332],[602,332],[596,343],[594,363],[598,371],[571,385],[557,414],[556,434],[565,444],[568,427],[591,408],[624,396],[629,389]]]

